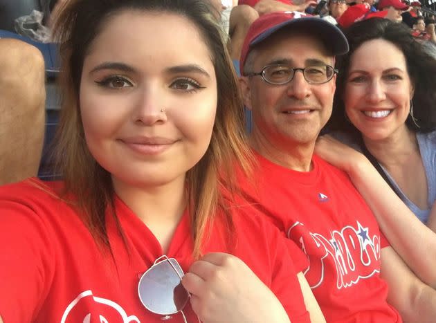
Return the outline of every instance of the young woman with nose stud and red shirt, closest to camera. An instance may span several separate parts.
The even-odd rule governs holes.
[[[64,181],[0,188],[0,322],[323,322],[306,259],[232,206],[250,154],[208,3],[71,0],[56,30]]]

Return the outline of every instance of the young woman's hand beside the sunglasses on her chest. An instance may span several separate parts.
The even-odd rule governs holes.
[[[182,284],[201,322],[289,322],[277,297],[233,255],[205,255],[192,264]]]

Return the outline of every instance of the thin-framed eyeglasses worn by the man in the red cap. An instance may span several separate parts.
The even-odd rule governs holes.
[[[333,75],[338,73],[336,68],[329,65],[314,65],[305,68],[293,68],[286,65],[265,66],[260,73],[249,73],[246,76],[262,76],[262,79],[269,84],[283,85],[291,82],[296,71],[302,71],[303,77],[309,84],[323,84],[329,82]]]

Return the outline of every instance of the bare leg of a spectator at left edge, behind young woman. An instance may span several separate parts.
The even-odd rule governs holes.
[[[0,185],[36,176],[44,142],[44,58],[34,46],[0,39]]]

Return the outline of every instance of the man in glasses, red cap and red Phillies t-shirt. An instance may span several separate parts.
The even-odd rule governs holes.
[[[434,322],[436,291],[389,246],[345,173],[314,155],[331,116],[331,66],[347,48],[336,26],[300,12],[264,15],[248,30],[240,85],[259,168],[241,178],[244,197],[307,255],[327,322]]]

